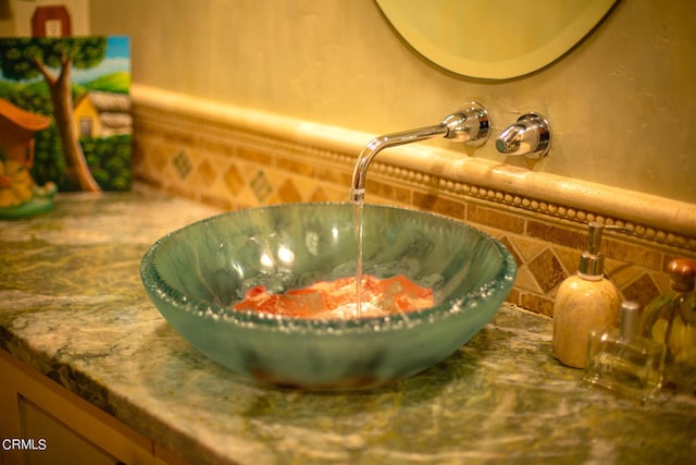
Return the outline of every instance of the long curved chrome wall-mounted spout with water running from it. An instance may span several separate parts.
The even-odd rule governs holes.
[[[350,199],[353,204],[364,201],[368,168],[374,157],[385,148],[435,137],[445,137],[477,147],[486,143],[489,133],[488,112],[481,105],[472,101],[468,107],[447,115],[437,125],[376,137],[358,156],[350,183]]]

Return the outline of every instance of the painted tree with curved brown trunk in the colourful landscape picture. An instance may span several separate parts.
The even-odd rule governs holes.
[[[73,111],[71,69],[95,68],[105,57],[105,37],[14,38],[0,45],[2,73],[22,81],[42,76],[53,103],[69,175],[83,191],[101,191],[78,142]]]

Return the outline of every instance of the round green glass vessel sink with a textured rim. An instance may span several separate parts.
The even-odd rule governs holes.
[[[365,205],[363,272],[406,274],[435,305],[348,320],[239,311],[246,291],[303,287],[356,271],[353,206],[294,204],[212,217],[160,238],[142,258],[148,296],[208,357],[262,381],[368,389],[417,375],[495,315],[517,272],[495,238],[436,215]]]

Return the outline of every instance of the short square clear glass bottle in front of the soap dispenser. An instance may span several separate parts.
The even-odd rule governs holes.
[[[621,327],[589,332],[584,380],[620,395],[646,402],[660,391],[664,344],[638,333],[639,307],[621,304]]]

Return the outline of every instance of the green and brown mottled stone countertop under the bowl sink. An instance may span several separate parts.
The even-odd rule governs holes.
[[[642,406],[591,390],[552,358],[550,320],[509,306],[450,358],[387,389],[259,384],[189,346],[140,283],[149,245],[214,209],[142,188],[55,204],[0,222],[0,346],[190,463],[696,457],[696,399],[661,394]]]

